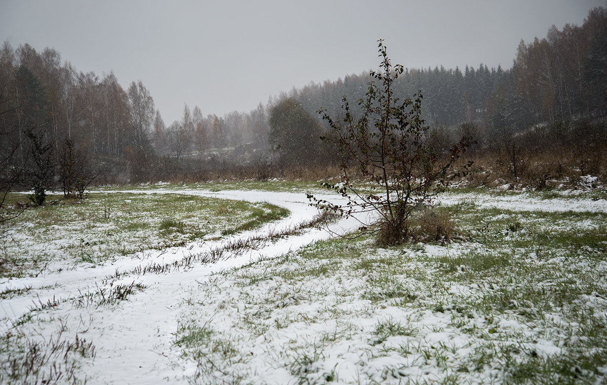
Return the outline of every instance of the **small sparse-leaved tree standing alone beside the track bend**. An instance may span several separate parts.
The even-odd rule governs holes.
[[[341,118],[334,120],[326,109],[319,110],[333,133],[328,140],[341,155],[342,182],[327,186],[348,202],[337,205],[310,194],[308,198],[319,208],[343,216],[373,213],[373,222],[363,223],[361,230],[379,232],[379,243],[395,245],[412,237],[413,219],[426,216],[433,197],[446,188],[447,171],[470,145],[470,138],[453,145],[448,155],[438,154],[427,141],[429,126],[421,118],[421,93],[404,100],[394,95],[393,83],[404,69],[392,66],[381,39],[379,57],[381,72],[371,71],[373,80],[358,101],[361,117],[353,117],[345,96]],[[362,175],[362,182],[370,183],[354,184],[352,169]]]

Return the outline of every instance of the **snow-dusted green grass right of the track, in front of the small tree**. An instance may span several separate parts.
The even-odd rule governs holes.
[[[358,380],[345,383],[605,383],[607,216],[448,209],[466,242],[316,242],[215,275],[181,321],[222,319],[208,327],[238,359],[246,349],[288,358],[273,364],[289,373],[280,380],[252,370],[263,359],[212,359],[233,383],[343,382],[348,362]],[[197,362],[194,383],[220,383]]]

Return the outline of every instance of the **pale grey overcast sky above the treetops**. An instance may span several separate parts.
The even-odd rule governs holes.
[[[512,66],[521,39],[581,25],[605,0],[0,0],[0,41],[141,80],[168,125],[183,105],[248,112],[270,95],[394,64]]]

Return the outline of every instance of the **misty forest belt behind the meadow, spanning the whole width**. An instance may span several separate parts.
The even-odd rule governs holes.
[[[319,139],[326,131],[319,108],[339,116],[344,95],[356,107],[368,81],[364,72],[310,83],[251,112],[223,117],[203,116],[200,107],[186,104],[181,119],[166,124],[141,81],[125,90],[114,73],[81,72],[54,49],[4,43],[0,187],[69,195],[89,183],[297,177],[336,162]],[[563,168],[605,177],[604,7],[590,10],[582,26],[553,26],[546,38],[521,41],[510,69],[407,69],[395,90],[402,98],[421,91],[422,112],[433,127],[429,140],[439,148],[473,135],[470,154],[486,165],[480,174],[501,168],[504,180],[517,180],[531,169],[532,156],[563,149],[561,160],[544,159],[543,171],[529,179],[543,172],[544,182],[536,182],[545,185]]]

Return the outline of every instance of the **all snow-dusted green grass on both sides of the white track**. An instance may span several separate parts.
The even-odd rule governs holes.
[[[274,191],[304,191],[314,185],[195,186],[220,191],[264,184]],[[148,193],[168,188],[184,186],[140,187]],[[9,267],[4,275],[18,276],[16,267],[24,268],[24,275],[52,273],[52,268],[44,270],[49,261],[61,262],[63,268],[94,266],[111,261],[112,253],[215,239],[288,214],[268,203],[144,196],[126,189],[94,193],[81,203],[28,209],[15,227],[2,227],[7,236],[0,256]],[[180,314],[172,341],[181,359],[194,363],[188,366],[195,367],[189,382],[605,383],[605,213],[506,210],[484,206],[480,200],[534,199],[550,205],[602,199],[600,194],[460,189],[446,197],[449,204],[437,210],[452,214],[457,242],[380,248],[368,235],[322,240],[220,271],[188,288],[186,298],[175,298]],[[226,253],[246,253],[301,234],[325,220],[330,218],[319,217],[263,239],[256,234],[231,239],[221,250],[143,264],[138,271],[117,270],[102,287],[35,301],[19,318],[6,318],[10,334],[0,336],[0,383],[36,383],[37,378],[38,383],[53,383],[59,373],[50,369],[55,364],[61,365],[61,381],[83,383],[86,378],[78,368],[94,358],[93,344],[73,333],[68,336],[63,326],[42,342],[37,330],[49,330],[56,322],[63,325],[61,309],[112,309],[146,289],[131,279],[118,279],[138,273],[146,283],[157,282],[162,278],[148,281],[144,274],[180,274]],[[92,236],[83,236],[83,228]],[[24,234],[42,239],[45,248],[33,248]],[[67,241],[53,244],[59,237]],[[14,250],[27,252],[19,255]],[[33,286],[7,287],[0,299],[12,301],[37,291]],[[22,362],[31,364],[21,369]]]

